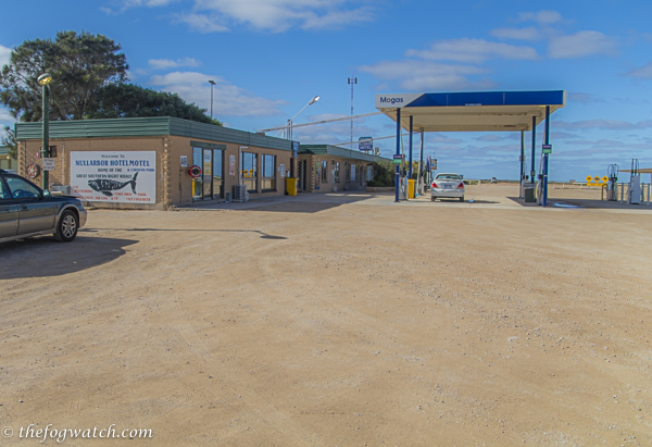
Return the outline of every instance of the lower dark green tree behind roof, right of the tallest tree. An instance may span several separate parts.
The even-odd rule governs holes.
[[[89,119],[175,116],[200,123],[222,125],[195,103],[187,103],[176,94],[155,91],[134,84],[109,84],[98,91],[96,109]]]

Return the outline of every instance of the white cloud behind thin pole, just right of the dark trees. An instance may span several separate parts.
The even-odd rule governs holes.
[[[222,116],[273,116],[281,114],[278,107],[284,104],[284,101],[255,97],[220,76],[197,72],[174,72],[162,76],[152,76],[149,84],[160,87],[161,90],[177,94],[184,100],[210,110],[210,79],[216,83],[213,91],[213,116],[218,120]]]

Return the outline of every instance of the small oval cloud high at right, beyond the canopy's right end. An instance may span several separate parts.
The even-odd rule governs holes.
[[[579,32],[550,39],[548,55],[554,59],[582,58],[592,54],[613,55],[616,42],[599,32]]]

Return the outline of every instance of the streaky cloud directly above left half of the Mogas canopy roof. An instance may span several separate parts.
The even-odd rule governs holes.
[[[359,67],[362,72],[384,80],[398,80],[401,88],[411,91],[443,89],[489,88],[489,82],[471,82],[468,75],[487,73],[471,65],[438,64],[426,61],[385,61]]]

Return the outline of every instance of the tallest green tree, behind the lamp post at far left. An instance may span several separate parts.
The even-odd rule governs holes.
[[[0,72],[0,102],[20,121],[42,117],[37,78],[53,78],[50,120],[82,120],[95,110],[98,90],[127,80],[125,54],[102,35],[59,32],[57,38],[26,40],[11,52]]]

